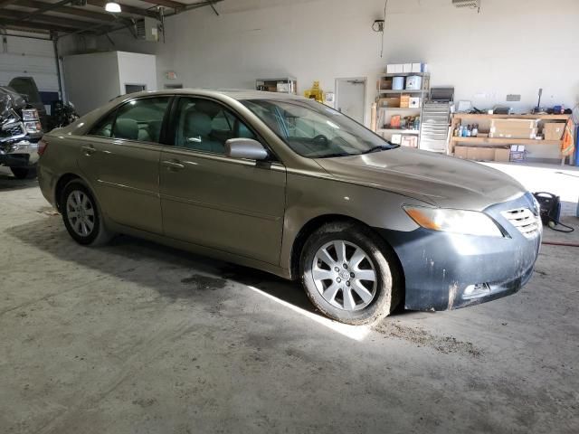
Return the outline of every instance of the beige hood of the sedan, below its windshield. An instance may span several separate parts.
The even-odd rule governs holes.
[[[400,193],[434,206],[480,211],[526,192],[515,179],[486,165],[404,147],[316,161],[339,181]]]

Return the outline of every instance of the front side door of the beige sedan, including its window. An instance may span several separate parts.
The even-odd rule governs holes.
[[[175,113],[160,165],[166,236],[279,264],[285,167],[225,156],[227,139],[257,137],[220,103],[180,98]]]

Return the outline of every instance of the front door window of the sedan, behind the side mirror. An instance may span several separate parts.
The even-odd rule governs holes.
[[[179,99],[177,117],[175,146],[225,154],[230,138],[256,139],[232,111],[209,99]]]

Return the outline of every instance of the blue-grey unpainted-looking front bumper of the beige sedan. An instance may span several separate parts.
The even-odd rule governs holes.
[[[542,227],[528,238],[501,212],[535,210],[530,193],[485,210],[508,232],[503,238],[444,231],[380,230],[401,261],[404,307],[446,310],[484,303],[517,292],[531,278],[541,245]]]

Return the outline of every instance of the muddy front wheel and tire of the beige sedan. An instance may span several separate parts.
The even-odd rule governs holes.
[[[302,250],[301,279],[326,316],[361,325],[379,320],[399,301],[394,252],[362,225],[332,222],[312,233]]]

